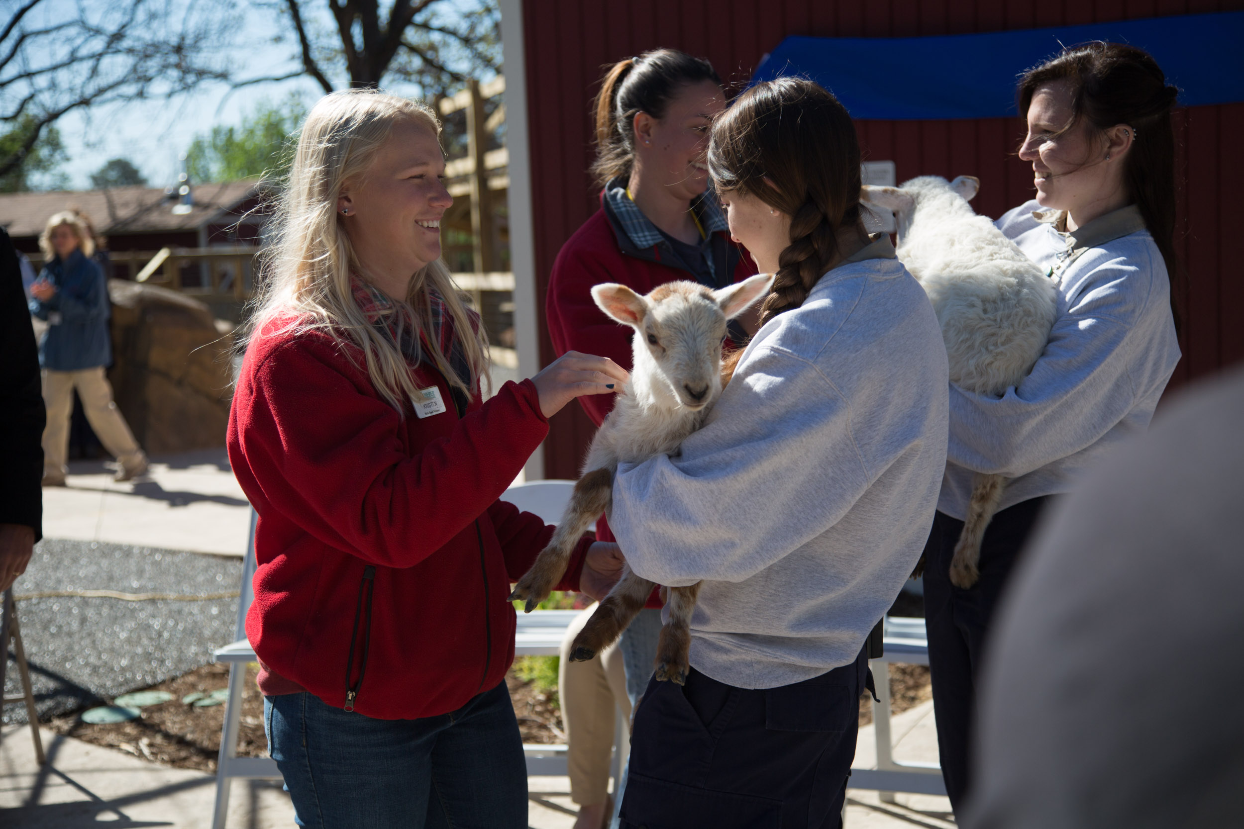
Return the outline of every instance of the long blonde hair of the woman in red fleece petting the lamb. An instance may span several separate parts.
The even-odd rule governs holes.
[[[351,272],[363,276],[363,268],[340,224],[337,196],[347,183],[366,175],[393,126],[403,119],[427,127],[439,140],[440,122],[430,108],[376,89],[333,92],[307,113],[277,204],[275,232],[251,317],[251,336],[272,317],[294,313],[296,319],[282,333],[320,329],[338,342],[357,346],[372,385],[399,413],[404,410],[404,400],[419,399],[417,388],[401,338],[394,341],[387,329],[372,326],[355,302]],[[470,377],[454,372],[437,337],[430,334],[429,288],[444,300],[470,364]],[[411,278],[404,300],[396,305],[399,319],[404,317],[414,327],[413,362],[430,357],[449,384],[470,396],[474,380],[488,378],[488,343],[483,326],[476,332],[471,324],[471,314],[445,263],[437,260],[420,268]],[[425,331],[429,334],[423,342],[420,333]]]

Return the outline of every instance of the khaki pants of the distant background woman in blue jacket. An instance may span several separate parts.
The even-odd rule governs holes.
[[[65,456],[70,444],[70,415],[73,414],[73,389],[77,389],[86,419],[108,454],[132,469],[143,460],[126,419],[112,400],[112,385],[103,374],[103,367],[80,372],[51,372],[44,369],[44,405],[47,406],[47,426],[44,429],[44,477],[65,479]]]

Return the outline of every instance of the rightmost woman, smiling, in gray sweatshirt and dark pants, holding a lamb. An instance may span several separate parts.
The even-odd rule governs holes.
[[[1121,44],[1064,50],[1019,85],[1036,199],[998,220],[1059,290],[1031,373],[1001,398],[950,389],[945,482],[926,548],[924,611],[942,773],[958,812],[969,788],[975,676],[998,597],[1051,497],[1148,428],[1179,344],[1174,135],[1168,86]],[[975,472],[1009,480],[970,589],[949,564]]]

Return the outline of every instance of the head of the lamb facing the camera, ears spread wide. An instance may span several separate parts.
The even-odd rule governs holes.
[[[631,385],[644,387],[661,406],[697,411],[722,393],[725,321],[769,288],[771,273],[710,291],[695,282],[667,282],[639,296],[622,285],[592,288],[596,305],[634,328]]]

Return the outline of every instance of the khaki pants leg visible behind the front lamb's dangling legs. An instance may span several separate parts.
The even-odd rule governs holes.
[[[622,654],[617,643],[586,662],[570,661],[570,645],[587,624],[593,610],[596,610],[595,604],[575,616],[570,624],[561,643],[561,665],[557,671],[561,722],[567,743],[570,799],[578,805],[605,802],[613,751],[615,710],[622,710],[623,722],[631,721],[631,700],[626,695],[626,669],[622,666]]]

